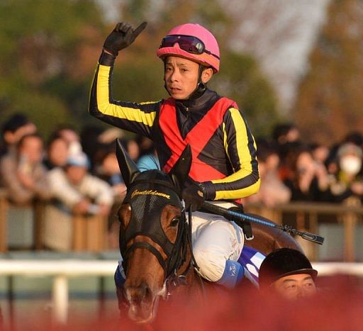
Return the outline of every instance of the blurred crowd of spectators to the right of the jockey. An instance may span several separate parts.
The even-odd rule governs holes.
[[[363,135],[352,132],[335,143],[301,140],[293,124],[274,128],[270,138],[257,138],[261,188],[246,203],[276,206],[290,201],[342,203],[363,200]]]

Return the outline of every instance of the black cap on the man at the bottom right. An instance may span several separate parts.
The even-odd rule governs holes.
[[[277,279],[294,274],[310,274],[315,279],[318,271],[313,269],[308,258],[298,250],[277,249],[268,254],[259,267],[259,286],[268,287]]]

